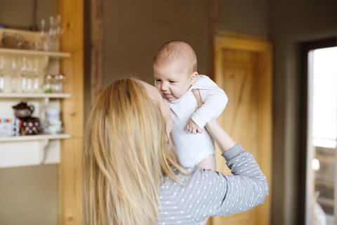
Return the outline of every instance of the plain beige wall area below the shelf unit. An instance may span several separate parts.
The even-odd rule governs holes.
[[[0,169],[0,224],[58,224],[58,165]]]

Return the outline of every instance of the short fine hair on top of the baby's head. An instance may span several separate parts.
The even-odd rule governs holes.
[[[197,56],[194,50],[184,41],[173,40],[166,42],[157,51],[153,65],[163,66],[171,63],[183,63],[187,65],[189,72],[197,72]]]

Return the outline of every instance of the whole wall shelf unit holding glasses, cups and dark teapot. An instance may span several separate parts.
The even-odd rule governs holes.
[[[62,93],[60,59],[70,53],[4,48],[18,37],[37,46],[41,32],[0,29],[1,35],[0,168],[58,163],[60,139],[70,138],[60,120],[60,101],[70,98]]]

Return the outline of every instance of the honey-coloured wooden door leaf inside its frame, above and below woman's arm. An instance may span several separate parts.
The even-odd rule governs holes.
[[[225,111],[219,117],[219,122],[227,132],[249,150],[257,159],[257,91],[256,80],[256,53],[224,49],[222,72],[223,79],[217,83],[228,96]],[[220,152],[217,154],[220,155]],[[217,157],[217,170],[230,174],[222,157]],[[213,224],[256,224],[256,209],[232,214],[225,217],[216,217]]]

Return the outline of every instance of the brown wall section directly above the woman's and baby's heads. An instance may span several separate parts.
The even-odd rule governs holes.
[[[130,75],[153,84],[152,60],[166,41],[187,41],[209,72],[208,1],[103,1],[103,84]]]

